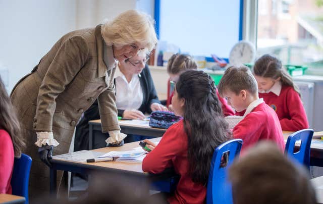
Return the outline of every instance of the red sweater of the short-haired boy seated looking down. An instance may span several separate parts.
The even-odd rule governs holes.
[[[272,140],[284,151],[282,127],[275,111],[265,103],[259,104],[233,128],[234,138],[243,140],[241,151],[259,140]]]

